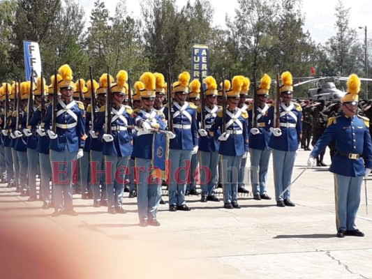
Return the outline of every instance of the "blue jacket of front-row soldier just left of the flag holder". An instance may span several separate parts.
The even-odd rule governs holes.
[[[105,125],[105,110],[106,106],[103,105],[100,108],[100,111],[97,114],[97,121],[94,124],[94,131],[96,135],[98,135],[99,140],[103,140],[103,134]],[[115,110],[118,115],[114,114],[114,108],[112,108],[112,137],[114,140],[112,142],[105,142],[103,141],[103,155],[108,156],[117,156],[117,157],[126,157],[131,156],[132,153],[132,130],[115,130],[116,127],[126,127],[128,125],[132,125],[131,114],[133,112],[132,108],[128,105],[121,105],[118,110]],[[117,117],[115,117],[117,116]]]

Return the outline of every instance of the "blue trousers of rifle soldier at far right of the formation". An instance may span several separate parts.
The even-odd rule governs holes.
[[[281,151],[272,149],[274,168],[274,187],[276,202],[283,199],[290,199],[290,181],[292,178],[293,165],[295,164],[296,151]],[[282,197],[279,197],[283,190]]]

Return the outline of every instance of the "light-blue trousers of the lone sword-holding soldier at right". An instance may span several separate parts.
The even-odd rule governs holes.
[[[355,218],[360,204],[363,176],[334,174],[334,198],[336,204],[337,230],[354,230]]]

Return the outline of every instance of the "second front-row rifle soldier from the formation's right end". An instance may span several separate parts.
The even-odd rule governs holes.
[[[248,149],[248,113],[237,107],[239,94],[244,77],[235,76],[232,79],[232,89],[226,92],[228,108],[226,115],[218,112],[210,135],[213,135],[225,126],[220,140],[221,182],[223,185],[223,202],[225,209],[240,209],[237,202],[238,175],[241,158]],[[228,81],[225,81],[225,84]],[[224,125],[223,125],[224,124]]]

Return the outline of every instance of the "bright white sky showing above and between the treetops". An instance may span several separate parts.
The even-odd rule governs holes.
[[[103,0],[110,15],[114,15],[116,4],[119,0]],[[193,3],[194,0],[191,0]],[[357,40],[364,40],[364,29],[358,27],[367,26],[367,38],[372,38],[372,24],[369,20],[372,15],[372,0],[341,0],[345,8],[350,8],[349,27],[357,29]],[[177,0],[177,6],[182,7],[187,0]],[[80,0],[89,18],[91,8],[94,7],[93,0]],[[228,4],[227,4],[228,3]],[[316,43],[324,44],[329,38],[336,34],[335,30],[335,7],[338,0],[302,0],[302,14],[305,16],[304,31],[309,31],[311,38]],[[211,0],[214,6],[214,25],[225,27],[225,15],[234,17],[235,9],[238,8],[237,0]],[[140,0],[127,0],[128,14],[138,17],[140,15]],[[88,21],[88,20],[87,20]]]

